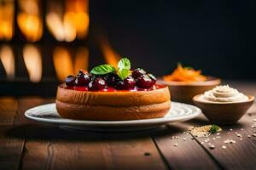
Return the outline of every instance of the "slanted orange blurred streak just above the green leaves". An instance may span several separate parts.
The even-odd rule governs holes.
[[[113,48],[111,48],[107,38],[100,38],[99,43],[106,63],[116,67],[120,59],[119,54],[117,54]]]

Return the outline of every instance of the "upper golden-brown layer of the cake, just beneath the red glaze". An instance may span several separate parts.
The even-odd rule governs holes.
[[[56,99],[64,103],[84,105],[152,105],[169,100],[170,92],[167,87],[138,92],[90,92],[58,87]]]

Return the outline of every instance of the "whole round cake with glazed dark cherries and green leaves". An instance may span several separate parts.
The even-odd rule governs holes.
[[[120,121],[165,116],[171,108],[169,89],[143,69],[131,71],[129,59],[97,65],[90,73],[68,76],[57,89],[61,117],[78,120]]]

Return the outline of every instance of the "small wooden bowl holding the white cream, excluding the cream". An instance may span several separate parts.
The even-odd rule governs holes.
[[[247,110],[253,105],[254,97],[248,95],[247,101],[241,102],[211,102],[201,100],[203,94],[196,95],[193,98],[195,105],[201,108],[203,114],[214,123],[217,124],[233,124],[236,123],[241,116],[244,116]]]

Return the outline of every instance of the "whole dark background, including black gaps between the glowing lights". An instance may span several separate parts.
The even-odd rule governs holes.
[[[41,2],[45,17],[46,3],[51,1]],[[43,77],[37,83],[29,81],[21,55],[27,42],[15,22],[15,37],[0,42],[14,49],[15,79],[6,78],[0,62],[0,96],[55,96],[64,80],[55,77],[53,49],[89,47],[91,69],[106,62],[98,37],[105,37],[117,54],[131,59],[132,68],[143,67],[156,76],[170,74],[181,62],[224,80],[255,81],[255,11],[253,0],[90,0],[89,37],[84,40],[57,42],[44,19],[43,37],[33,42],[43,56]]]

